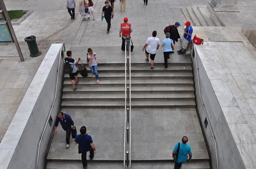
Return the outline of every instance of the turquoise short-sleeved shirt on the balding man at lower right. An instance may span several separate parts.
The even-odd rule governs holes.
[[[173,151],[177,152],[178,146],[179,145],[177,143]],[[188,159],[188,154],[190,153],[191,153],[191,147],[188,144],[182,144],[182,142],[180,142],[180,150],[178,154],[177,163],[185,163]]]

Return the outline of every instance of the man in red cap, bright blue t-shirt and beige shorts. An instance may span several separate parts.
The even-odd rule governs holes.
[[[184,29],[182,49],[180,49],[180,51],[177,51],[178,54],[184,54],[184,51],[186,51],[186,48],[189,45],[189,41],[191,40],[192,33],[193,33],[193,28],[190,24],[191,23],[189,21],[186,21],[186,23],[184,23],[184,25],[186,25],[186,28]]]

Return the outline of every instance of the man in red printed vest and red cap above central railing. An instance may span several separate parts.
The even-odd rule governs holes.
[[[120,29],[119,29],[119,37],[121,37],[121,32],[122,32],[122,47],[121,50],[125,51],[125,37],[130,36],[131,37],[131,23],[128,23],[128,18],[124,18],[124,23],[121,23]]]

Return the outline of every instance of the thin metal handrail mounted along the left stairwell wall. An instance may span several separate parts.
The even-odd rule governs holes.
[[[39,141],[39,144],[38,144],[38,154],[37,154],[37,159],[36,159],[36,169],[38,169],[38,164],[39,164],[39,155],[40,155],[40,147],[41,147],[41,143],[42,143],[42,140],[43,140],[43,137],[44,137],[44,133],[45,133],[45,130],[46,130],[46,127],[47,127],[47,124],[48,124],[48,121],[51,117],[51,113],[52,113],[52,109],[54,107],[54,104],[55,104],[55,101],[56,101],[56,97],[57,97],[57,90],[58,90],[58,79],[59,79],[59,73],[60,73],[60,64],[61,64],[61,54],[62,54],[62,46],[64,47],[64,51],[66,51],[66,48],[65,48],[65,45],[64,43],[62,43],[61,45],[61,49],[60,49],[60,55],[59,55],[59,63],[58,63],[58,75],[57,75],[57,80],[56,80],[56,88],[55,88],[55,97],[54,97],[54,100],[53,100],[53,103],[51,105],[51,110],[50,110],[50,113],[48,115],[48,118],[47,118],[47,121],[44,125],[44,130],[43,130],[43,133],[40,137],[40,141]],[[63,51],[63,52],[64,52]]]

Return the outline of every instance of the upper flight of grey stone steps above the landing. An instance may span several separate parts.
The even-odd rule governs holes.
[[[87,78],[79,74],[75,91],[69,75],[65,75],[61,108],[124,107],[124,64],[99,64],[98,68],[99,84],[91,73]],[[156,64],[153,71],[149,68],[148,63],[131,66],[132,107],[195,107],[191,62],[170,63],[168,70],[163,64]]]

